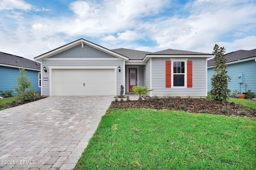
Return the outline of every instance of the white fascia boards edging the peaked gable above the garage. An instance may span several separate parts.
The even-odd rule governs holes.
[[[68,50],[68,49],[71,49],[72,47],[75,47],[75,46],[77,46],[77,45],[80,45],[82,42],[83,42],[84,44],[86,44],[86,45],[89,45],[90,47],[93,47],[93,48],[95,48],[95,49],[98,49],[98,50],[100,50],[100,51],[103,51],[103,52],[105,52],[105,53],[108,53],[108,54],[113,55],[113,56],[115,56],[115,57],[124,59],[124,60],[126,60],[126,61],[129,60],[127,57],[124,57],[124,56],[122,56],[122,55],[119,55],[119,54],[115,53],[114,51],[110,51],[110,50],[108,50],[108,49],[105,49],[104,47],[101,47],[101,46],[99,46],[99,45],[96,45],[96,44],[94,44],[94,43],[91,43],[91,42],[89,42],[89,41],[86,41],[86,40],[84,40],[84,39],[78,39],[77,41],[74,41],[74,42],[69,43],[69,44],[67,44],[67,45],[64,45],[64,46],[62,46],[62,47],[59,47],[59,48],[57,48],[57,49],[55,49],[55,50],[52,50],[52,51],[50,51],[50,52],[48,52],[48,53],[45,53],[45,54],[40,55],[40,56],[38,56],[38,57],[34,57],[34,60],[40,61],[40,60],[42,60],[42,59],[51,57],[51,56],[53,56],[53,55],[56,55],[56,54],[58,54],[58,53],[61,53],[61,52],[63,52],[63,51],[66,51],[66,50]],[[81,46],[81,48],[82,48],[82,46]]]

